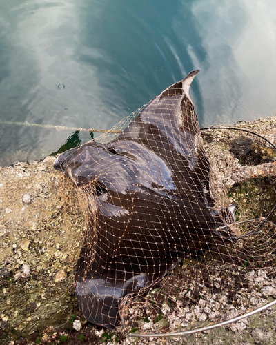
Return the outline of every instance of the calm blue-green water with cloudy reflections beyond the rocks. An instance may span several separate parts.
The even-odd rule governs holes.
[[[275,115],[275,12],[275,0],[2,0],[0,121],[109,129],[195,68],[201,126]],[[0,165],[90,140],[4,124],[0,137]]]

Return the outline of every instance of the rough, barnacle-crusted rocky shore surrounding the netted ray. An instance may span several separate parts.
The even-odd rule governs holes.
[[[233,126],[276,144],[276,116]],[[237,221],[266,217],[276,203],[275,150],[246,132],[210,129],[202,135],[217,198],[226,187],[230,203],[237,205]],[[126,330],[120,325],[111,332],[88,324],[77,307],[74,288],[85,215],[75,187],[52,168],[54,160],[0,168],[1,344],[275,344],[276,308],[196,335],[129,336],[137,330],[160,333],[206,326],[275,299],[272,225],[260,230],[256,242],[244,242],[252,253],[257,248],[250,262],[242,262],[237,246],[232,248],[235,269],[233,259],[214,263],[208,255],[184,262],[147,297],[157,302],[158,311],[129,306]],[[276,221],[276,215],[270,220]]]

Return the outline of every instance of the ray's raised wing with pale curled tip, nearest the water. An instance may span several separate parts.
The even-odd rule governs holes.
[[[190,99],[190,84],[199,70],[193,70],[185,79],[172,84],[155,97],[115,141],[109,144],[115,150],[129,150],[125,140],[144,145],[166,161],[174,174],[175,184],[188,193],[189,186],[206,207],[215,203],[210,191],[210,164]],[[194,190],[191,190],[194,194]]]

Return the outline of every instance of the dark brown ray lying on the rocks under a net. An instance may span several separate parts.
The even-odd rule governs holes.
[[[55,161],[86,195],[76,293],[94,324],[115,328],[124,297],[147,293],[181,259],[219,238],[219,226],[233,222],[211,193],[189,96],[197,72],[150,101],[116,139],[88,142]]]

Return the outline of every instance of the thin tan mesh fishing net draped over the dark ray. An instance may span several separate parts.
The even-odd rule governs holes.
[[[275,224],[237,221],[188,93],[197,72],[55,161],[86,200],[76,293],[94,324],[169,334],[276,296]]]

